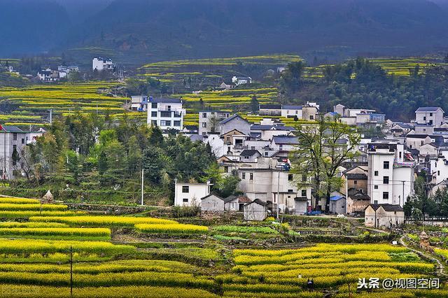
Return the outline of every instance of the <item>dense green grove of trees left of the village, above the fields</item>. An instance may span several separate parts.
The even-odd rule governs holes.
[[[159,127],[147,127],[126,117],[118,122],[97,115],[74,115],[53,122],[48,133],[19,152],[17,170],[25,173],[28,187],[92,185],[139,190],[141,170],[149,189],[173,198],[174,180],[213,180],[214,191],[235,192],[238,179],[219,178],[210,146]]]

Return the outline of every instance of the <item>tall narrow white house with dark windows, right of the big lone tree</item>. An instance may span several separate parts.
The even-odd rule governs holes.
[[[367,194],[372,204],[403,206],[414,194],[414,162],[398,141],[370,143],[367,149]]]

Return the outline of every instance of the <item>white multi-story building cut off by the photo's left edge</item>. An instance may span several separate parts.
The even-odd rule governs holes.
[[[36,141],[36,137],[41,136],[45,131],[24,132],[22,129],[14,126],[0,125],[0,179],[12,179],[15,175],[14,170],[20,175],[20,162],[13,162],[13,152],[17,151],[19,157],[22,149],[27,144]]]

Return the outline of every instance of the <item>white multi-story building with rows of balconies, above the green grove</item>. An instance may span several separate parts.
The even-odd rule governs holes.
[[[162,130],[183,129],[183,116],[186,110],[182,107],[181,99],[148,100],[148,125],[157,125]]]

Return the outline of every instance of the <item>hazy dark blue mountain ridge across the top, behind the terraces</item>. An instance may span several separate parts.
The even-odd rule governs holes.
[[[62,7],[52,1],[38,2],[47,13],[59,11],[57,20],[76,16],[67,12],[76,8],[73,3]],[[0,8],[5,2],[11,1],[0,0]],[[89,10],[92,15],[82,22],[55,30],[48,43],[12,36],[8,47],[0,45],[0,55],[71,48],[92,54],[94,48],[137,64],[268,52],[411,55],[448,48],[442,0],[103,0],[98,5],[102,8]],[[0,28],[0,37],[6,30],[15,28]]]

